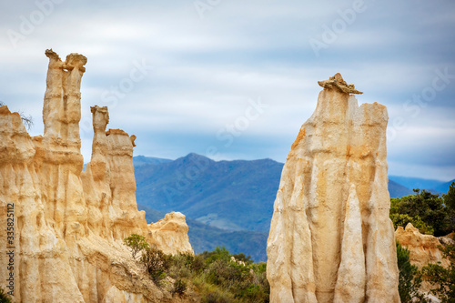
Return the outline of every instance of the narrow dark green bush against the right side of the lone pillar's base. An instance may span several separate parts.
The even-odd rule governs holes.
[[[397,242],[397,259],[399,267],[399,298],[402,303],[425,302],[418,290],[422,278],[415,265],[410,264],[410,251]]]

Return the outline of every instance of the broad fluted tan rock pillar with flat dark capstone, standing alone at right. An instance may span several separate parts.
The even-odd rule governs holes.
[[[337,74],[283,167],[268,237],[270,302],[399,302],[387,109]]]

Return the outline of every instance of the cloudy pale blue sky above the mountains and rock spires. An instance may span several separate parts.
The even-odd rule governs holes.
[[[135,155],[284,162],[316,108],[319,80],[341,73],[359,104],[388,107],[389,175],[455,178],[455,2],[36,0],[0,4],[0,101],[42,107],[52,48],[88,58],[90,106],[136,135]]]

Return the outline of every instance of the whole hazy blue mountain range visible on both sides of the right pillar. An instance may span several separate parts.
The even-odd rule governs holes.
[[[197,154],[176,160],[133,158],[136,200],[147,221],[179,211],[187,216],[188,237],[197,253],[224,246],[256,261],[267,259],[268,228],[282,163],[271,159],[214,161]],[[390,197],[411,188],[447,192],[450,182],[389,176]]]

